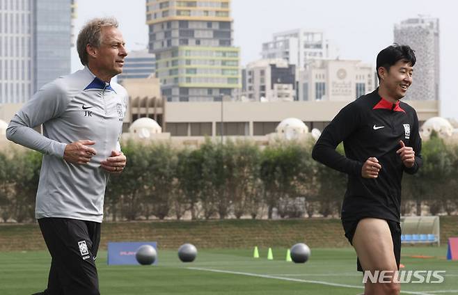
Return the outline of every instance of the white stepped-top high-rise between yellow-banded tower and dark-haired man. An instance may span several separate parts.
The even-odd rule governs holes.
[[[336,58],[338,49],[325,38],[323,31],[295,29],[274,33],[272,41],[262,43],[262,58],[283,58],[298,70],[308,61]]]

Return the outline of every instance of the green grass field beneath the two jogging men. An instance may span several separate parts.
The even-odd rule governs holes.
[[[195,262],[184,264],[171,250],[160,250],[155,266],[108,266],[99,253],[97,268],[103,295],[278,295],[349,294],[363,292],[352,248],[312,248],[306,264],[285,261],[286,249],[267,249],[254,259],[253,249],[200,250]],[[429,258],[412,257],[432,256]],[[458,262],[445,260],[445,247],[404,247],[407,270],[446,271],[441,284],[403,284],[402,294],[458,294]],[[49,254],[45,251],[0,253],[0,294],[30,295],[47,282]]]

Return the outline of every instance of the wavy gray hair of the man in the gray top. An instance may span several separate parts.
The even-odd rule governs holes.
[[[86,46],[90,45],[92,47],[100,47],[100,42],[102,42],[102,27],[114,26],[118,28],[118,21],[114,17],[103,17],[90,19],[78,34],[77,40],[77,50],[79,55],[79,60],[83,65],[88,64],[88,51],[86,51]]]

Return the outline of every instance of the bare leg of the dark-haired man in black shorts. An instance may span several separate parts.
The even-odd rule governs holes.
[[[390,228],[384,219],[363,218],[356,226],[352,244],[365,271],[397,271]],[[365,283],[365,295],[398,295],[400,284]]]

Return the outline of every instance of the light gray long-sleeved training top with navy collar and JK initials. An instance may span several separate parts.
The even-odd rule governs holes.
[[[11,120],[6,137],[44,154],[35,217],[102,222],[109,173],[100,162],[120,151],[127,91],[95,77],[88,67],[38,90]],[[43,136],[32,128],[43,125]],[[95,141],[88,164],[63,159],[68,143]]]

